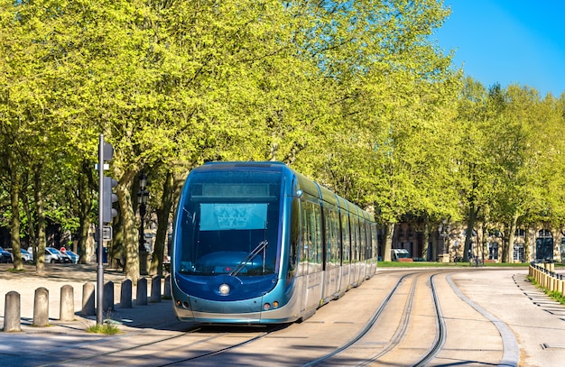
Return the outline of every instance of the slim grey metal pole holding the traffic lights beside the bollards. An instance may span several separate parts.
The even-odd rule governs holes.
[[[98,142],[98,265],[97,265],[97,325],[104,322],[104,134]]]

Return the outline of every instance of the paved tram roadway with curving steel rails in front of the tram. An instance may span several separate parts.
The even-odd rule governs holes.
[[[71,366],[90,361],[96,361],[94,365],[138,366],[216,365],[224,361],[250,366],[269,362],[289,366],[394,362],[424,366],[461,361],[516,365],[519,348],[514,335],[458,290],[451,280],[457,271],[383,271],[376,280],[350,290],[355,294],[343,298],[346,303],[341,299],[331,302],[302,324],[261,330],[222,326],[174,331],[163,327],[78,344],[67,358],[34,365]],[[355,298],[366,299],[364,305],[375,306],[374,311],[359,319],[355,309],[363,308]],[[357,308],[349,310],[351,305]],[[481,330],[486,340],[501,342],[486,346],[475,342],[477,345],[468,347],[463,343],[468,341],[466,330]]]

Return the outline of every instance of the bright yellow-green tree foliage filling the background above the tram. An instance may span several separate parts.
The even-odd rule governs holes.
[[[73,232],[94,219],[104,133],[127,256],[139,173],[158,208],[168,173],[178,187],[216,160],[284,161],[385,224],[472,209],[562,225],[565,97],[462,78],[432,39],[447,16],[403,0],[0,0],[0,224],[16,192],[23,234],[40,209]]]

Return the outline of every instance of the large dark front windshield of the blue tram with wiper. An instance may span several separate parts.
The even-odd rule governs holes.
[[[276,271],[281,174],[199,172],[190,176],[176,239],[177,269],[193,275]]]

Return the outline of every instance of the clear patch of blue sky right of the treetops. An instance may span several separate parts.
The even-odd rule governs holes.
[[[434,38],[454,65],[486,87],[565,92],[565,0],[444,0],[451,15]]]

